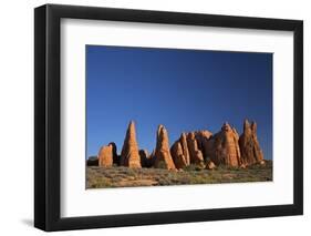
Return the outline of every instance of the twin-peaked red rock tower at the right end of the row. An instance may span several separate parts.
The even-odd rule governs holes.
[[[257,124],[255,122],[250,124],[248,120],[245,121],[243,133],[239,138],[239,145],[241,151],[241,164],[248,166],[256,163],[265,163],[262,162],[263,153],[257,138]]]

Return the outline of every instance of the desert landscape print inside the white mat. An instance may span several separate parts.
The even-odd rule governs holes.
[[[86,188],[272,181],[272,53],[86,45]]]

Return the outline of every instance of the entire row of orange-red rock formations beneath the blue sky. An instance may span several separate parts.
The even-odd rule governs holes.
[[[166,170],[183,170],[196,165],[206,170],[219,165],[246,168],[253,164],[265,164],[263,153],[257,137],[257,124],[243,122],[243,132],[239,136],[235,127],[225,123],[221,130],[212,134],[209,131],[184,132],[169,146],[168,132],[159,125],[156,132],[156,147],[152,154],[139,150],[136,140],[135,123],[128,124],[121,156],[117,155],[115,143],[102,146],[96,160],[90,160],[87,165],[110,167],[114,165],[131,168],[155,167]]]

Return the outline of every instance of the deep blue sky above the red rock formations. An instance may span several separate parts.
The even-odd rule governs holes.
[[[131,120],[152,152],[158,124],[172,145],[226,121],[240,134],[249,119],[272,158],[272,54],[86,45],[86,157],[110,142],[120,153]]]

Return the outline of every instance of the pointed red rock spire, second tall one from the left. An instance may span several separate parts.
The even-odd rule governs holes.
[[[168,134],[163,125],[157,129],[154,167],[176,170],[169,152]]]

